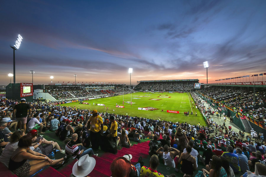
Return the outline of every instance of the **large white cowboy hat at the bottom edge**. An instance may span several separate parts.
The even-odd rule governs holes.
[[[72,173],[76,177],[84,177],[90,174],[95,167],[96,160],[93,157],[90,157],[88,154],[82,156],[72,168]]]

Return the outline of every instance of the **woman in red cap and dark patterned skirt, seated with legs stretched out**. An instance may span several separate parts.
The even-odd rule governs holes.
[[[43,137],[37,137],[38,132],[37,130],[31,130],[27,135],[30,135],[30,137],[32,138],[32,146],[37,145],[38,148],[40,148],[42,154],[48,156],[49,154],[51,154],[53,152],[53,148],[55,148],[56,150],[60,150],[61,149],[59,147],[59,145],[57,144],[57,142],[54,141],[47,141],[45,138]],[[39,142],[42,141],[42,145]],[[36,148],[36,147],[35,147]]]

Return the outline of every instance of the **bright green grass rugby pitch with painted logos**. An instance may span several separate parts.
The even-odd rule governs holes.
[[[158,97],[160,95],[171,98],[160,98]],[[140,97],[140,96],[148,96],[148,97]],[[161,100],[150,100],[150,99],[161,99]],[[149,94],[149,93],[137,92],[132,94],[132,103],[134,102],[132,106],[128,103],[125,103],[125,101],[130,102],[130,94],[124,95],[124,105],[123,105],[123,95],[119,95],[119,96],[83,101],[83,102],[89,102],[91,105],[79,104],[78,102],[74,102],[74,103],[61,104],[61,106],[72,106],[72,107],[76,106],[80,107],[81,109],[91,109],[91,110],[97,109],[98,112],[106,112],[108,107],[109,108],[108,113],[115,113],[115,114],[128,113],[128,115],[130,116],[139,116],[151,119],[158,119],[158,117],[160,117],[161,120],[188,122],[190,124],[197,124],[198,122],[200,122],[201,125],[206,125],[206,122],[203,116],[200,114],[200,111],[193,109],[192,102],[189,101],[189,95],[186,93],[168,94],[168,92],[164,92],[164,93]],[[104,106],[96,106],[96,105],[93,106],[93,103],[105,104],[106,110],[104,109]],[[119,106],[124,106],[124,108],[117,108],[116,103],[119,104]],[[138,107],[153,107],[156,108],[157,110],[154,111],[138,110]],[[179,114],[168,113],[166,112],[167,110],[179,111]],[[189,117],[184,116],[185,111],[189,111],[191,113],[191,110],[193,110],[193,115],[189,114]],[[197,116],[195,116],[196,111],[198,113]]]

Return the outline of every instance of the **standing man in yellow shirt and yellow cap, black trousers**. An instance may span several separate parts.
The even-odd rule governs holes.
[[[90,128],[90,137],[91,145],[94,150],[99,149],[101,134],[103,134],[103,118],[98,115],[98,111],[94,109],[92,111],[92,116],[88,121],[88,124],[91,124]],[[100,134],[101,133],[101,134]]]

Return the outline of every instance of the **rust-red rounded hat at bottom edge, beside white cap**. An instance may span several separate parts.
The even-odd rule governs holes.
[[[131,171],[131,163],[124,157],[118,157],[110,165],[112,177],[129,176]]]

